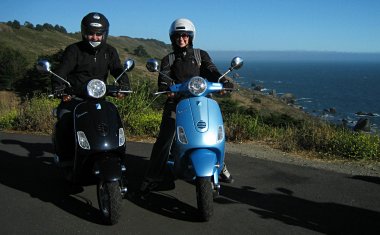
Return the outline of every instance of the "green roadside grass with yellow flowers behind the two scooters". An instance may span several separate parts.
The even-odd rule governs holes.
[[[161,110],[155,108],[151,83],[139,79],[134,87],[136,92],[129,97],[110,99],[120,111],[127,136],[156,137]],[[51,133],[55,120],[50,113],[58,100],[39,94],[20,102],[10,92],[1,92],[0,97],[0,129]],[[380,161],[379,135],[353,132],[313,118],[263,115],[256,109],[239,106],[231,98],[220,103],[228,141],[260,141],[283,151],[303,151],[319,158]]]

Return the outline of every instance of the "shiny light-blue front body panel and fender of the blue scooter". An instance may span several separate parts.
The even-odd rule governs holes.
[[[181,132],[185,133],[187,143],[181,141]],[[207,97],[181,100],[176,109],[175,140],[172,155],[177,176],[219,174],[224,162],[225,138],[218,103]]]

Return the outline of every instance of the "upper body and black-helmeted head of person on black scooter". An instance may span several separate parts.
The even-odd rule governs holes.
[[[55,70],[59,76],[67,79],[75,95],[82,96],[87,82],[97,78],[107,81],[108,72],[113,77],[123,72],[119,54],[107,44],[109,23],[107,18],[96,12],[86,15],[81,22],[82,41],[69,45],[60,66]],[[129,86],[128,75],[120,78],[120,84]],[[53,80],[53,90],[63,89],[63,83]]]

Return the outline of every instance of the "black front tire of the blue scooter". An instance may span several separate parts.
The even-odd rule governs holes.
[[[214,214],[213,189],[210,177],[197,177],[196,194],[198,211],[201,219],[208,221]]]

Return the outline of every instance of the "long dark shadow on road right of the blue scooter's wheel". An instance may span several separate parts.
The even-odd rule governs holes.
[[[277,188],[278,193],[259,193],[252,186],[222,189],[223,197],[254,207],[250,210],[265,219],[325,234],[380,234],[379,212],[305,200],[285,188]]]

